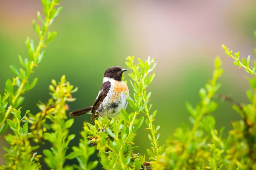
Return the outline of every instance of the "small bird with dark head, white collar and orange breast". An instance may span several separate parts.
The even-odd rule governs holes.
[[[77,117],[88,113],[91,114],[91,122],[99,116],[109,118],[118,116],[120,110],[125,109],[128,104],[126,94],[129,94],[129,90],[126,83],[122,81],[122,74],[127,70],[118,66],[108,68],[104,73],[102,87],[93,106],[73,111],[69,115]]]

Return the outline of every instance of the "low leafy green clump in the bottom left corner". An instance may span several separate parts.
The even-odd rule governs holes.
[[[29,142],[28,123],[22,125],[21,121],[25,118],[29,111],[26,111],[25,116],[20,118],[20,110],[12,111],[14,120],[7,119],[9,127],[13,130],[14,134],[8,134],[5,139],[10,144],[10,148],[4,147],[7,152],[3,157],[6,159],[6,166],[1,166],[0,169],[13,169],[13,170],[40,170],[41,165],[37,163],[41,155],[33,153],[38,146],[31,146]]]

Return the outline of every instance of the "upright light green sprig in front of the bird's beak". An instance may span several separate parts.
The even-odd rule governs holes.
[[[140,112],[145,113],[145,115],[147,116],[145,124],[148,127],[147,129],[149,129],[151,132],[151,134],[148,134],[148,138],[151,141],[152,145],[151,150],[147,149],[147,152],[148,155],[150,156],[150,159],[156,161],[158,150],[161,149],[161,146],[159,146],[157,142],[160,136],[160,133],[157,134],[157,130],[159,130],[160,126],[157,126],[155,128],[153,125],[153,121],[157,111],[154,111],[152,114],[150,114],[152,105],[148,107],[148,102],[150,100],[151,92],[147,94],[146,88],[155,77],[155,73],[151,75],[150,73],[154,70],[157,63],[154,63],[155,59],[151,60],[150,57],[148,57],[148,59],[145,62],[143,62],[142,59],[138,59],[139,63],[137,65],[134,65],[134,57],[127,57],[126,59],[128,60],[128,62],[126,62],[126,65],[133,70],[133,73],[130,73],[129,76],[133,80],[133,82],[130,80],[130,83],[135,93],[133,95],[133,99],[131,97],[129,97],[128,99],[131,108],[133,108],[135,111],[132,120],[134,120],[137,114],[139,114]],[[141,123],[143,122],[143,118],[144,117],[141,117],[140,119]],[[131,129],[132,124],[133,121],[131,122],[129,129]],[[132,131],[130,130],[128,136],[131,134]]]

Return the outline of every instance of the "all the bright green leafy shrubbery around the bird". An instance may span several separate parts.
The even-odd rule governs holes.
[[[66,82],[63,76],[58,83],[52,80],[52,85],[49,86],[51,98],[47,103],[38,103],[41,110],[39,113],[25,112],[21,107],[24,100],[22,94],[36,85],[37,78],[31,82],[29,77],[33,68],[44,57],[44,51],[41,50],[57,34],[47,30],[62,9],[55,8],[59,1],[42,0],[44,21],[38,12],[42,28],[35,26],[33,21],[39,43],[35,46],[33,40],[27,38],[29,58],[23,59],[19,56],[22,65],[20,69],[10,67],[15,77],[6,81],[5,93],[0,95],[0,134],[8,127],[13,131],[5,136],[10,147],[3,148],[6,151],[3,156],[6,165],[0,165],[0,170],[40,170],[42,157],[48,168],[55,170],[91,170],[99,163],[105,169],[115,170],[220,170],[224,167],[230,170],[256,170],[256,63],[250,66],[250,56],[240,60],[239,52],[233,54],[224,45],[225,53],[235,60],[234,64],[253,75],[249,79],[253,92],[246,92],[249,104],[236,103],[230,96],[217,93],[221,87],[217,80],[223,72],[221,60],[217,57],[212,79],[199,90],[201,100],[198,105],[193,107],[186,102],[192,128],[182,124],[166,140],[166,144],[161,146],[158,143],[160,126],[154,125],[157,111],[151,109],[151,92],[147,91],[155,76],[155,59],[137,59],[135,64],[134,57],[127,57],[126,65],[132,70],[129,82],[133,88],[127,100],[133,112],[121,110],[120,115],[113,119],[99,117],[94,125],[84,122],[78,146],[71,147],[73,151],[66,154],[69,142],[75,137],[73,134],[69,135],[74,119],[66,116],[67,102],[75,101],[71,94],[77,88]],[[227,138],[222,137],[224,127],[219,131],[215,129],[215,118],[211,115],[218,108],[218,103],[214,101],[216,97],[230,102],[232,108],[241,116],[241,120],[232,122],[233,130],[229,131]],[[145,159],[144,154],[137,153],[139,146],[133,142],[143,123],[147,126],[145,132],[148,133],[148,142],[152,145],[147,149],[149,160]],[[31,141],[36,145],[32,145]],[[43,150],[43,153],[36,153],[45,141],[51,147]],[[99,161],[90,159],[95,152],[98,153]],[[67,159],[76,159],[78,164],[64,166]]]

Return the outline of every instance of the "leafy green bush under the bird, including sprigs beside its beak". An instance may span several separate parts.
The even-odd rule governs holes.
[[[144,168],[144,165],[149,165],[145,162],[145,155],[139,155],[135,153],[138,146],[133,142],[134,136],[136,136],[137,130],[144,122],[144,116],[139,119],[137,116],[140,113],[145,113],[148,117],[146,123],[148,129],[151,131],[149,139],[153,147],[148,150],[148,154],[152,160],[156,160],[159,150],[156,133],[159,127],[155,129],[152,122],[156,115],[156,111],[153,114],[149,114],[152,107],[148,102],[151,94],[146,93],[146,87],[152,82],[154,74],[150,75],[150,72],[154,70],[156,64],[153,65],[155,59],[148,60],[144,63],[141,59],[138,59],[138,66],[133,65],[134,57],[128,57],[126,64],[133,70],[133,73],[129,76],[133,79],[134,83],[131,85],[134,87],[134,98],[129,97],[128,101],[131,108],[134,109],[134,113],[128,114],[125,110],[122,110],[119,117],[108,119],[108,117],[99,117],[94,121],[95,125],[90,123],[85,124],[84,131],[81,132],[83,140],[79,143],[79,148],[73,147],[73,152],[68,155],[68,158],[75,158],[81,165],[78,169],[93,169],[92,166],[96,166],[96,161],[88,162],[88,156],[94,153],[95,148],[99,151],[100,163],[105,169],[137,169]],[[151,66],[152,65],[152,66]],[[151,68],[150,68],[151,67]],[[140,73],[141,71],[141,73]],[[136,87],[136,88],[135,88]],[[87,147],[88,143],[85,138],[90,138],[92,147]],[[80,145],[83,144],[83,147]],[[96,145],[96,146],[95,146]],[[87,147],[87,148],[86,148]],[[85,150],[88,154],[82,155],[81,149]],[[84,160],[84,161],[82,161]],[[143,165],[144,164],[144,165]]]

